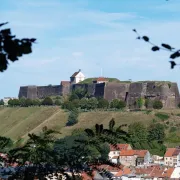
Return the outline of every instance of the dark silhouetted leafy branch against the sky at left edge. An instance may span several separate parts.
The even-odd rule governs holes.
[[[6,25],[6,23],[1,23],[1,26]],[[15,62],[19,60],[25,54],[30,54],[32,52],[32,44],[36,39],[24,38],[17,39],[16,36],[11,34],[10,29],[0,30],[0,72],[3,72],[8,67],[8,60]]]

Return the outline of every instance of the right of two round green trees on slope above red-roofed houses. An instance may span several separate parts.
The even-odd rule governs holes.
[[[151,124],[148,127],[148,140],[149,141],[158,141],[163,143],[165,139],[165,130],[162,124]]]

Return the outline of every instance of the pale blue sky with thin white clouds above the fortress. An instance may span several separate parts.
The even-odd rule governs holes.
[[[37,43],[0,73],[0,98],[18,97],[20,86],[59,85],[79,69],[86,78],[101,76],[102,69],[104,77],[122,81],[180,85],[180,68],[170,69],[169,53],[152,52],[132,31],[180,47],[179,7],[180,0],[1,0],[0,22],[8,21],[17,38]]]

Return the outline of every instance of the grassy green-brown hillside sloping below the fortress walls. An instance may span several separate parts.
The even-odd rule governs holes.
[[[138,112],[83,112],[79,115],[79,122],[72,127],[65,127],[68,112],[59,107],[28,107],[28,108],[0,108],[0,136],[7,136],[13,140],[26,139],[28,133],[37,133],[42,127],[60,131],[60,137],[70,135],[73,131],[93,127],[96,123],[108,126],[109,120],[115,118],[116,125],[130,124],[140,121],[145,125],[163,123],[167,133],[167,144],[180,143],[180,110],[138,111]]]

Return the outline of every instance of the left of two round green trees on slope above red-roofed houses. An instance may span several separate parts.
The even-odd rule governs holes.
[[[134,122],[130,124],[128,132],[134,142],[143,142],[147,140],[147,129],[141,122]]]

